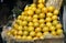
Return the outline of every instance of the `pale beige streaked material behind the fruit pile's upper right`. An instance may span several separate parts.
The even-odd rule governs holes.
[[[48,0],[46,7],[54,6],[56,9],[61,9],[63,0]]]

